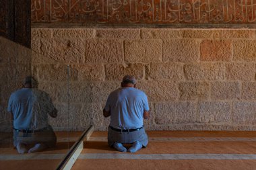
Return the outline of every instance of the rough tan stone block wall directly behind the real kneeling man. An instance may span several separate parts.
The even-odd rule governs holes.
[[[69,95],[43,65],[53,80],[41,87],[60,110],[52,123],[75,129],[106,130],[108,93],[130,74],[150,101],[147,130],[256,130],[255,47],[255,29],[32,29],[32,50],[71,67]]]

